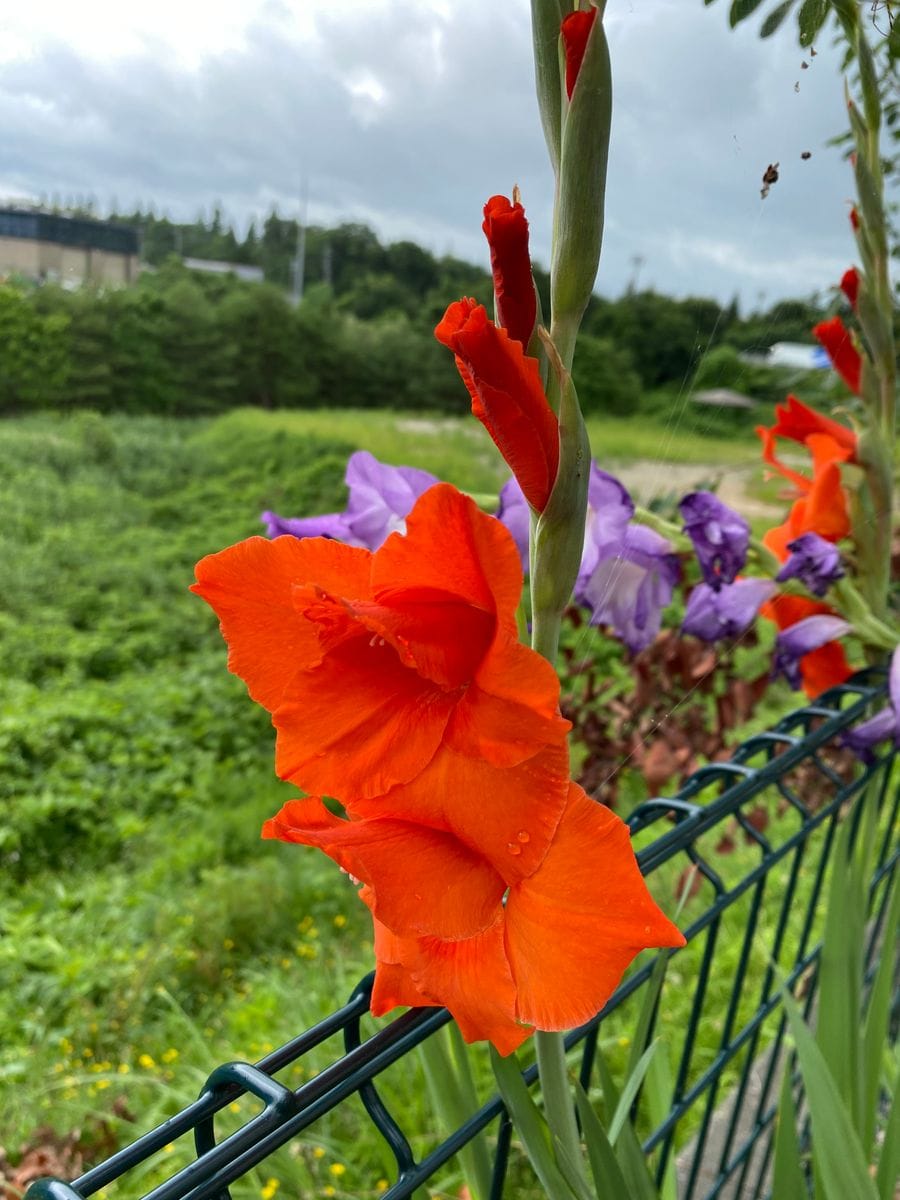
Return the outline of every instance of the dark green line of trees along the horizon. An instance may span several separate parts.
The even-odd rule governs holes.
[[[299,240],[293,220],[271,212],[262,229],[251,224],[242,238],[218,210],[184,224],[152,212],[110,220],[142,232],[150,269],[134,287],[0,286],[0,412],[203,414],[240,404],[466,409],[451,356],[432,330],[461,295],[490,307],[486,270],[436,257],[412,241],[383,245],[361,224],[310,227],[304,295],[293,304]],[[257,265],[266,282],[190,271],[179,256]],[[536,268],[535,280],[546,311],[548,276]],[[576,354],[578,394],[586,412],[624,414],[648,392],[690,383],[701,364],[707,385],[746,382],[738,352],[808,342],[821,317],[815,300],[782,301],[742,317],[737,301],[722,307],[653,290],[594,296]],[[758,398],[778,398],[782,385],[770,374],[751,379]]]

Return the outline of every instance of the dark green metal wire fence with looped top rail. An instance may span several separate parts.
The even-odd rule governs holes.
[[[842,734],[883,702],[883,673],[859,674],[751,737],[728,762],[703,767],[677,796],[650,800],[630,817],[638,862],[658,900],[670,912],[677,896],[684,902],[679,920],[688,946],[668,960],[644,1038],[662,1040],[670,1093],[665,1111],[659,1098],[654,1111],[647,1096],[634,1110],[658,1181],[672,1187],[677,1178],[682,1200],[767,1194],[778,1081],[791,1069],[782,1054],[780,978],[804,997],[809,1013],[834,833],[858,799],[880,812],[869,966],[877,955],[887,883],[900,854],[900,768],[895,748],[864,764],[842,746]],[[624,1056],[654,961],[641,961],[604,1012],[569,1036],[588,1091],[596,1084],[599,1052],[613,1070],[617,1055]],[[176,1116],[72,1182],[40,1181],[28,1200],[83,1200],[116,1181],[118,1195],[136,1195],[127,1172],[155,1156],[163,1162],[163,1148],[190,1135],[196,1159],[146,1200],[222,1200],[278,1147],[338,1105],[359,1102],[392,1152],[385,1200],[446,1178],[446,1164],[476,1136],[487,1139],[492,1153],[491,1200],[534,1194],[503,1105],[490,1092],[463,1124],[443,1130],[444,1140],[414,1153],[412,1142],[420,1146],[421,1136],[395,1121],[391,1097],[410,1086],[414,1051],[450,1016],[415,1009],[364,1032],[371,985],[370,976],[342,1008],[256,1064],[217,1067],[199,1098]],[[676,996],[682,998],[677,1020]],[[335,1044],[330,1066],[296,1088],[278,1081],[284,1068],[328,1043]],[[526,1078],[533,1084],[535,1076],[532,1066]],[[257,1097],[262,1110],[218,1141],[216,1115],[245,1094]],[[382,1171],[379,1159],[367,1187]]]

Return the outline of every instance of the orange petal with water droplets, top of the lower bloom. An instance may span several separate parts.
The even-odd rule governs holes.
[[[544,859],[569,793],[565,743],[515,767],[497,768],[442,746],[413,782],[386,796],[354,799],[358,817],[396,817],[446,829],[481,853],[506,883]]]

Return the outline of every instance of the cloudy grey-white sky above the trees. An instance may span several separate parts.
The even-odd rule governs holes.
[[[830,38],[804,58],[792,28],[760,42],[727,8],[608,0],[602,294],[637,276],[748,308],[824,290],[852,259]],[[548,260],[528,0],[4,5],[0,128],[1,198],[152,200],[184,220],[218,200],[244,224],[296,214],[306,188],[312,222],[473,260],[485,199],[517,182]]]

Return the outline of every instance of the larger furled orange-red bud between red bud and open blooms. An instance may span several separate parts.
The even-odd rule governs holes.
[[[450,305],[434,336],[456,355],[472,412],[528,503],[542,512],[559,470],[559,422],[544,394],[538,360],[470,299]]]

